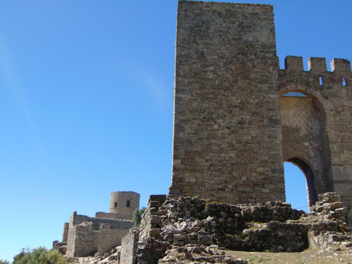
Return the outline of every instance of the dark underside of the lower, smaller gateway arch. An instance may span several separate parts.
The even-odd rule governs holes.
[[[290,162],[296,165],[303,173],[306,178],[306,186],[307,186],[307,201],[308,206],[311,207],[315,205],[318,200],[318,195],[315,189],[315,173],[316,169],[312,166],[311,163],[306,162],[307,159],[302,158],[304,155],[294,155],[290,158],[284,158],[284,162]]]

